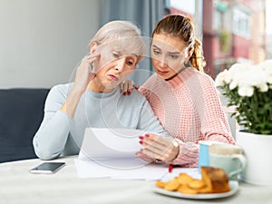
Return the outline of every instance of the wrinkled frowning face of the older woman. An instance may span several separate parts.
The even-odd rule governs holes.
[[[93,64],[96,85],[100,90],[111,92],[135,69],[138,57],[118,41],[96,46],[100,58]]]

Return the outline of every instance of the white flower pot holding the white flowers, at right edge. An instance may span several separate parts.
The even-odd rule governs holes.
[[[236,140],[248,160],[241,180],[256,185],[272,185],[272,135],[237,131]]]

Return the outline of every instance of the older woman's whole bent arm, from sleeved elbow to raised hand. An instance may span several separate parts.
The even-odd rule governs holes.
[[[62,86],[56,86],[49,93],[45,102],[44,120],[33,140],[34,151],[42,160],[52,160],[63,153],[76,107],[88,84],[95,77],[94,73],[89,74],[89,66],[97,56],[83,58],[71,91],[68,91],[68,87],[67,90],[62,90]]]

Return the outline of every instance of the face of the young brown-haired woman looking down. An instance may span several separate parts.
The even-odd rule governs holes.
[[[155,72],[164,80],[175,76],[189,60],[184,42],[175,36],[154,34],[151,44],[151,60]]]

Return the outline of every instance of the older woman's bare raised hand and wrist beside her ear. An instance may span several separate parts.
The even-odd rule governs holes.
[[[95,77],[95,73],[90,73],[92,63],[100,57],[100,54],[90,54],[83,58],[82,63],[76,71],[73,86],[78,92],[85,92],[88,84]]]

